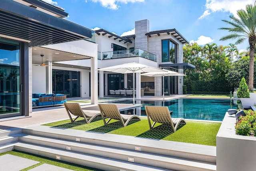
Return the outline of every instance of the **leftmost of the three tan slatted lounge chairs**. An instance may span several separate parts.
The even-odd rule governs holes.
[[[98,111],[87,111],[87,110],[82,110],[80,107],[79,103],[63,103],[66,111],[68,113],[68,116],[71,120],[71,122],[76,121],[78,117],[84,117],[84,120],[86,123],[90,123],[92,119],[100,115],[100,112]],[[75,119],[72,119],[71,115],[77,116]],[[90,118],[89,120],[87,118]]]

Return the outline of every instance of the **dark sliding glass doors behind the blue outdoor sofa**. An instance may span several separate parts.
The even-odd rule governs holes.
[[[80,72],[52,70],[52,92],[80,97]]]

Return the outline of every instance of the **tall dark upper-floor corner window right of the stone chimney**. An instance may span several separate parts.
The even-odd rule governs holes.
[[[171,40],[162,40],[162,62],[177,63],[177,45]]]

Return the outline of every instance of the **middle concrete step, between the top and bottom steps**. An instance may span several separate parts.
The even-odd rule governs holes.
[[[122,160],[125,162],[129,161],[129,159],[132,159],[134,163],[149,165],[152,167],[160,167],[163,169],[189,171],[216,170],[216,164],[214,163],[206,163],[202,161],[160,155],[156,153],[146,153],[142,151],[135,151],[134,149],[128,150],[26,134],[21,134],[19,136],[19,141],[35,145],[47,146],[55,149],[68,149],[70,151],[84,153],[86,155],[96,155],[100,157],[107,157],[109,159]]]

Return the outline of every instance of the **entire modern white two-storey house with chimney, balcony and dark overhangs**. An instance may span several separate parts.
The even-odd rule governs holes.
[[[0,118],[29,115],[32,93],[62,93],[67,97],[110,95],[132,88],[132,74],[99,72],[98,68],[138,62],[183,72],[183,44],[176,30],[149,30],[149,21],[135,22],[135,34],[118,36],[90,30],[63,18],[60,7],[41,0],[2,0],[0,6]],[[136,74],[136,98],[182,94],[182,77]]]

